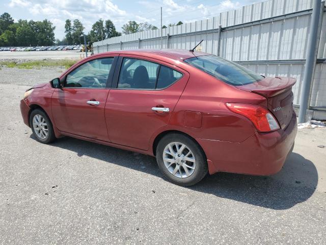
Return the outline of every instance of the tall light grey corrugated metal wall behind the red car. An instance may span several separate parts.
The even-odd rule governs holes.
[[[189,50],[204,39],[203,52],[218,55],[220,46],[221,57],[259,74],[296,78],[293,103],[298,105],[311,7],[312,0],[270,0],[223,12],[211,19],[163,29],[162,40],[160,30],[152,30],[95,42],[94,53],[161,47]],[[323,11],[322,15],[325,15]],[[326,108],[325,41],[326,17],[323,17],[310,101],[312,107]]]

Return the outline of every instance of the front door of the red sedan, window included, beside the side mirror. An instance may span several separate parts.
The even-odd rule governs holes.
[[[104,107],[117,59],[92,59],[65,76],[64,87],[56,89],[51,99],[52,116],[60,131],[110,141]]]

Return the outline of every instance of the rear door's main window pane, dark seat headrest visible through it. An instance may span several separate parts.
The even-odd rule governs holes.
[[[154,62],[123,58],[118,88],[155,89],[158,67]]]

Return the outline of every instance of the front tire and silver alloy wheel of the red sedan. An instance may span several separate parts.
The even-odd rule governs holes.
[[[37,130],[37,128],[39,126],[35,127],[35,125],[33,124],[34,117],[36,117],[36,122],[40,118],[43,118],[43,119],[41,119],[41,124],[42,124],[41,128],[42,129]],[[46,125],[44,125],[44,122],[45,122]],[[50,118],[46,115],[46,113],[43,110],[35,109],[35,110],[33,110],[31,112],[30,126],[31,126],[31,129],[32,129],[33,135],[34,135],[34,137],[36,138],[37,141],[39,141],[41,143],[44,143],[44,144],[48,144],[48,143],[53,142],[56,139],[55,132],[53,131],[52,122],[51,122]],[[45,136],[46,132],[47,132],[47,134]]]

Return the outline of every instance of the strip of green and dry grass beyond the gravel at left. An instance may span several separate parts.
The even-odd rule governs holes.
[[[0,65],[4,65],[10,68],[17,67],[19,69],[32,69],[35,67],[65,67],[70,68],[78,60],[31,60],[26,62],[15,62],[15,61],[2,61]]]

